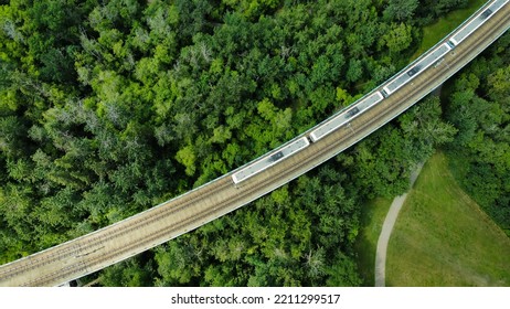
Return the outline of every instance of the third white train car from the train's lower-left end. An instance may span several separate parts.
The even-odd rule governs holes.
[[[393,78],[386,86],[383,87],[383,92],[387,97],[392,93],[396,92],[400,87],[407,84],[411,79],[419,75],[427,67],[433,65],[436,61],[442,58],[446,55],[449,51],[451,51],[451,46],[448,43],[443,43],[437,46],[432,53],[424,56],[418,63],[411,66],[408,70]]]

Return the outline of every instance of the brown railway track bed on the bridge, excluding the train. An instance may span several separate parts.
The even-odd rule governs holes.
[[[470,60],[479,53],[474,49],[479,49],[479,45],[486,47],[496,40],[490,38],[499,36],[508,29],[509,11],[507,4],[472,38],[467,39],[469,44],[459,45],[454,53],[445,56],[448,65],[439,62],[427,68],[426,74],[403,86],[376,108],[353,119],[349,126],[311,143],[299,156],[261,172],[241,188],[234,188],[230,174],[226,174],[138,215],[2,265],[0,286],[59,285],[82,277],[196,228],[270,192],[351,147],[455,74],[465,58]]]

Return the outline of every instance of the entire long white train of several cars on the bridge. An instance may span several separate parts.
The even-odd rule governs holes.
[[[381,89],[376,89],[363,98],[354,102],[344,110],[332,116],[328,120],[319,124],[314,129],[309,130],[304,137],[297,138],[273,152],[261,157],[259,159],[235,170],[232,173],[232,181],[238,184],[259,172],[268,169],[269,167],[296,154],[304,150],[310,142],[316,142],[329,134],[336,131],[338,128],[348,124],[353,118],[360,116],[369,110],[374,105],[382,102],[384,98],[391,96],[399,88],[413,81],[416,76],[427,70],[431,65],[442,60],[448,52],[459,45],[466,38],[480,28],[487,20],[489,20],[497,11],[504,7],[510,0],[496,0],[490,6],[478,12],[478,14],[469,22],[464,24],[460,29],[455,31],[449,39],[443,44],[437,45],[432,52],[425,56],[419,57],[416,62],[408,65],[395,77],[390,79]]]

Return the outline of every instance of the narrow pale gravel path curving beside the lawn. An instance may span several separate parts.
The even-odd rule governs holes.
[[[423,163],[419,163],[416,170],[411,174],[411,187],[413,187],[416,178],[422,171]],[[378,249],[375,252],[375,286],[384,287],[385,286],[385,267],[386,267],[386,251],[387,242],[390,241],[390,235],[392,234],[393,225],[395,225],[396,217],[399,212],[404,204],[407,193],[404,193],[400,196],[396,196],[393,200],[390,211],[386,214],[384,220],[383,228],[381,235],[379,235]]]

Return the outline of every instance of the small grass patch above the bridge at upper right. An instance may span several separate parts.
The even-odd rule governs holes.
[[[434,46],[446,34],[456,29],[464,20],[478,10],[487,0],[471,0],[465,9],[456,10],[439,19],[435,23],[423,29],[423,40],[419,49],[414,53],[411,60],[417,58],[425,51]]]

